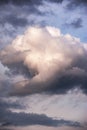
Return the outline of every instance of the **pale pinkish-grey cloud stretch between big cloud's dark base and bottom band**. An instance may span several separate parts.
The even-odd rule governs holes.
[[[83,123],[87,120],[85,115],[87,96],[76,89],[64,95],[47,95],[41,93],[16,98],[17,102],[21,102],[21,104],[26,106],[26,109],[23,109],[22,112],[43,113],[50,117],[58,117],[59,119],[62,118]],[[16,112],[17,110],[14,109],[13,111]]]

